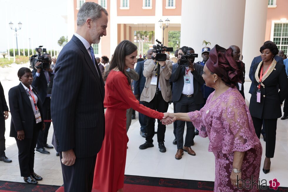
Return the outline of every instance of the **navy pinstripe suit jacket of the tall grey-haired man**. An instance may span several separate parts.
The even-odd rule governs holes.
[[[56,151],[73,149],[77,158],[95,156],[105,132],[104,82],[99,66],[73,35],[58,58],[53,79],[52,144]]]

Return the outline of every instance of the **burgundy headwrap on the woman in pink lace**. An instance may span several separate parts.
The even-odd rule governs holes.
[[[217,74],[226,85],[234,87],[237,82],[242,83],[244,65],[233,58],[233,49],[225,49],[215,45],[209,53],[209,59],[206,67],[212,73]]]

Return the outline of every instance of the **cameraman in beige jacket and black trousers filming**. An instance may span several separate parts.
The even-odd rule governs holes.
[[[140,97],[140,101],[144,101],[145,106],[156,109],[159,112],[167,112],[169,101],[172,98],[170,86],[170,76],[172,73],[172,63],[167,59],[165,51],[173,51],[173,48],[165,47],[160,41],[157,46],[153,45],[153,54],[151,60],[144,63],[143,75],[146,77],[145,87]],[[147,136],[146,142],[139,146],[140,149],[154,147],[153,137],[155,135],[155,119],[147,117]],[[159,151],[164,153],[166,148],[164,145],[166,126],[158,120],[157,141]]]

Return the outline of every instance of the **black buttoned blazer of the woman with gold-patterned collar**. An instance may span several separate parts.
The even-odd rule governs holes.
[[[258,65],[259,63],[254,65],[253,74],[256,73]],[[260,88],[260,103],[257,103],[258,82],[255,79],[255,75],[252,83],[254,90],[252,91],[249,105],[251,116],[260,119],[277,119],[281,117],[280,105],[288,94],[288,80],[284,64],[277,63],[272,73],[262,82],[265,87],[261,86]],[[279,92],[277,85],[279,85]]]

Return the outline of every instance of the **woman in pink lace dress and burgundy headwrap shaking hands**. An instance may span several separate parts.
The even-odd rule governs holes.
[[[209,138],[208,151],[215,155],[214,191],[217,192],[259,189],[252,181],[258,183],[262,147],[245,100],[235,87],[243,77],[242,69],[233,59],[231,48],[226,50],[216,45],[203,70],[206,85],[215,89],[205,106],[190,113],[164,114],[164,118],[174,121],[192,121],[199,135]],[[249,179],[251,184],[243,185],[240,179]]]

